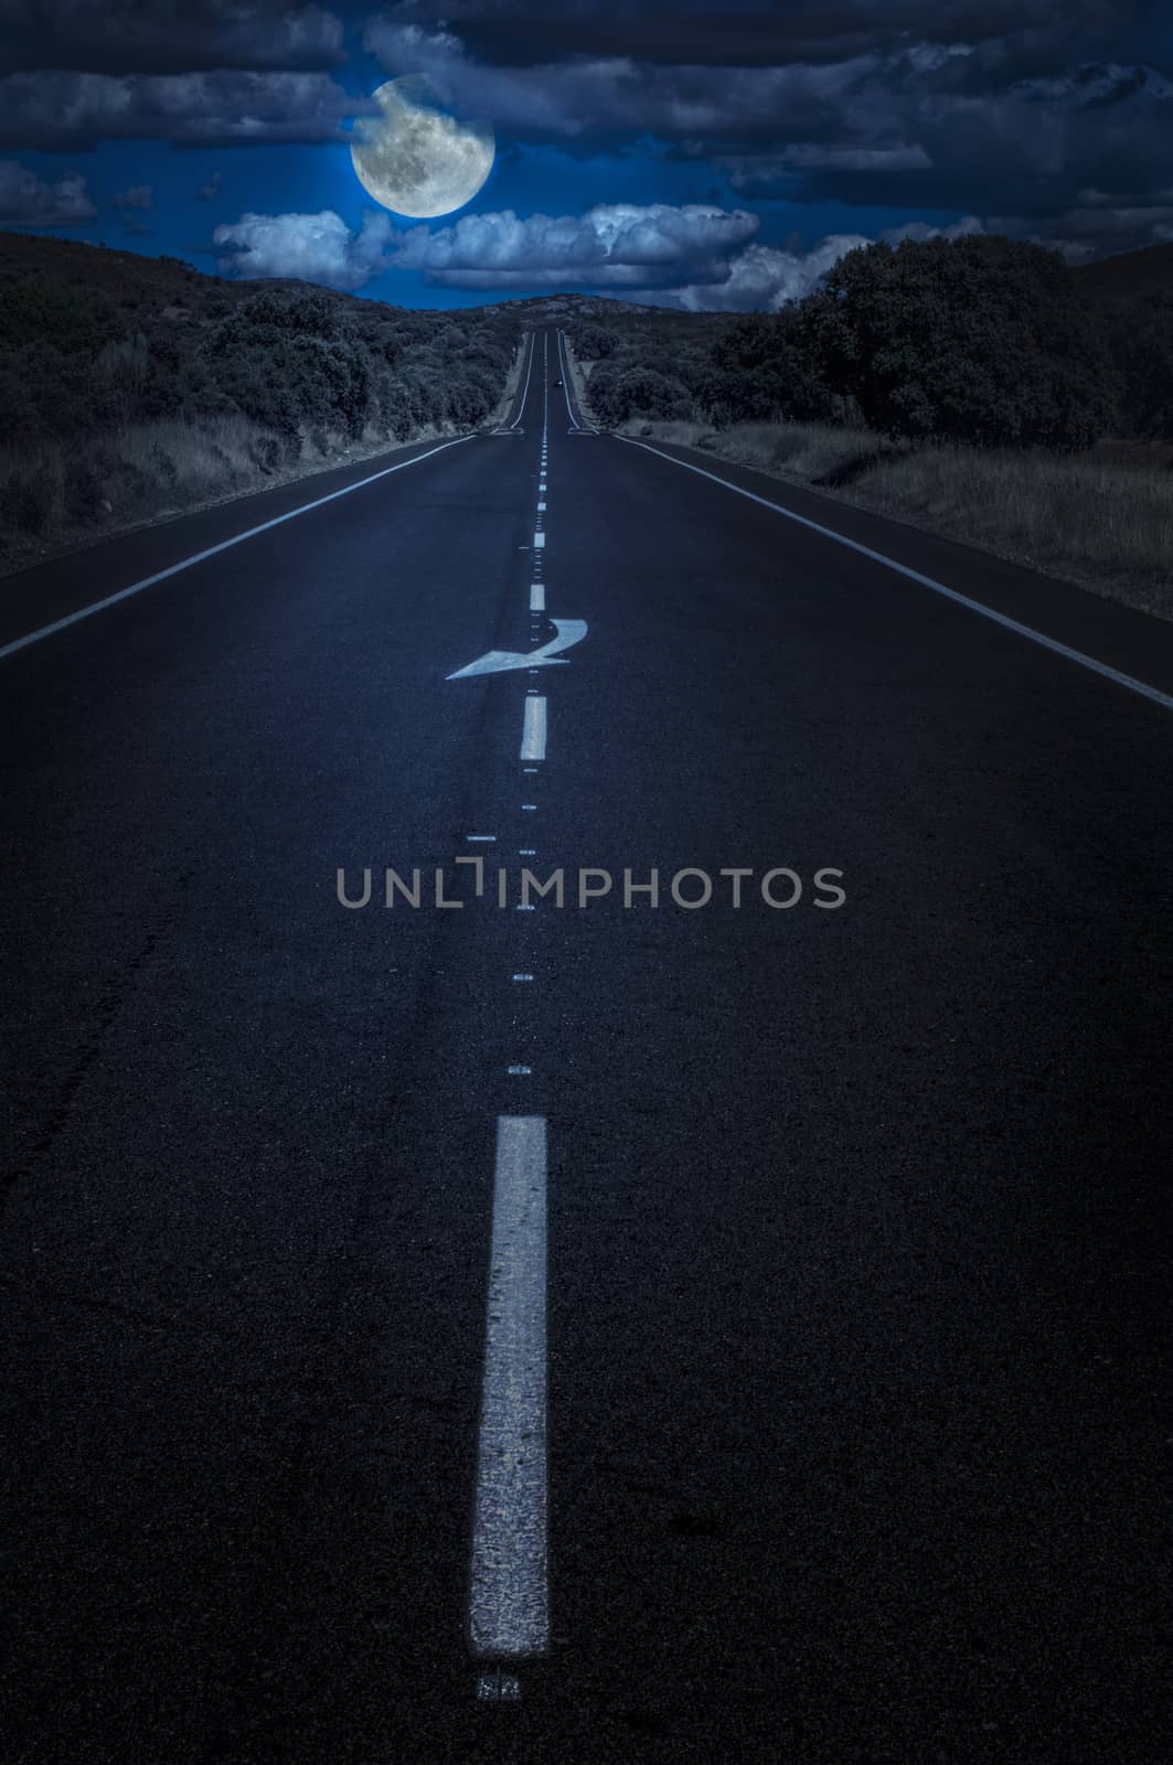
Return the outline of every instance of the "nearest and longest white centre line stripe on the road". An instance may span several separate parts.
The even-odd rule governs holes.
[[[498,1115],[468,1629],[479,1656],[544,1654],[546,1117]]]

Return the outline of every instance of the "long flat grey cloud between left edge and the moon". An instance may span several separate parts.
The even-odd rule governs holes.
[[[369,111],[329,74],[9,74],[0,79],[0,146],[49,152],[95,141],[177,146],[341,141],[343,118]]]

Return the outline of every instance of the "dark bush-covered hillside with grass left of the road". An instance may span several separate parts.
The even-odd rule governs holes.
[[[0,568],[488,424],[519,337],[509,307],[413,312],[0,233]]]

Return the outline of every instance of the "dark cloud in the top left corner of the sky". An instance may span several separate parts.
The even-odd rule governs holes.
[[[343,23],[297,0],[0,0],[0,65],[166,74],[327,69]]]

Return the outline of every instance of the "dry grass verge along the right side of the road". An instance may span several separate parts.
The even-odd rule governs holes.
[[[1092,454],[899,447],[820,424],[625,425],[816,485],[913,526],[1173,620],[1173,469],[1168,450]]]

